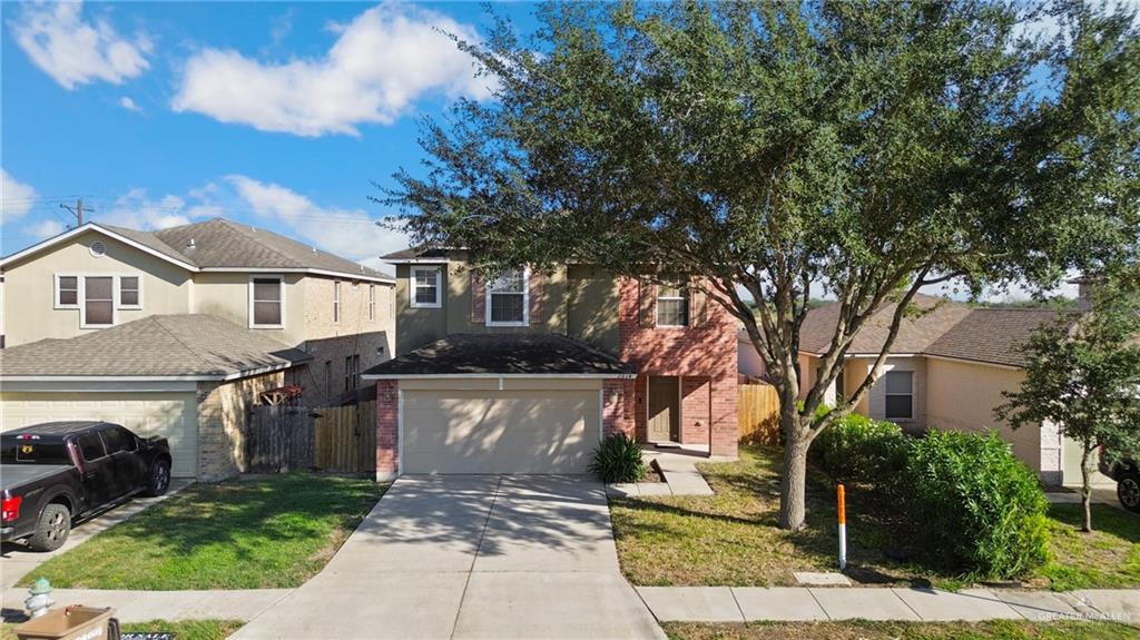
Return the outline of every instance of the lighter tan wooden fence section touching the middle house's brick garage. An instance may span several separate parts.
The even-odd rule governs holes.
[[[376,470],[376,401],[317,409],[315,466],[345,474]]]

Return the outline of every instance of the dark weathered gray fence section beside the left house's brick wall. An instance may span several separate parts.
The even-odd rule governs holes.
[[[246,468],[287,473],[312,467],[314,426],[303,407],[259,405],[245,433]]]

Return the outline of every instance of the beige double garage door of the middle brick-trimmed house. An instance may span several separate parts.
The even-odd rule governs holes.
[[[407,391],[409,474],[584,474],[600,437],[597,391]]]

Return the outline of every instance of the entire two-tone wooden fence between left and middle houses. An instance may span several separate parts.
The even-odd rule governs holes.
[[[375,473],[375,401],[315,409],[254,407],[246,426],[245,454],[246,468],[253,473]]]

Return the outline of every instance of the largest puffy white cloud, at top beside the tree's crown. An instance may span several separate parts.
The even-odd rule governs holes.
[[[339,26],[318,59],[262,63],[204,49],[186,63],[171,107],[261,131],[356,136],[361,124],[391,124],[429,92],[489,97],[489,79],[475,77],[472,58],[437,30],[478,40],[442,14],[385,2]]]

